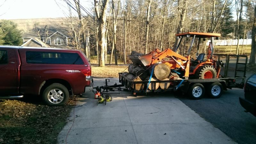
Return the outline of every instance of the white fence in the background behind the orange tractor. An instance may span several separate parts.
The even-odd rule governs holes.
[[[231,45],[237,45],[237,39],[236,40],[213,40],[213,44],[215,46],[231,46]],[[252,39],[240,39],[239,40],[239,45],[242,45],[244,41],[244,45],[251,45],[252,44]],[[211,42],[211,40],[207,41],[207,45],[209,45],[209,42]]]

